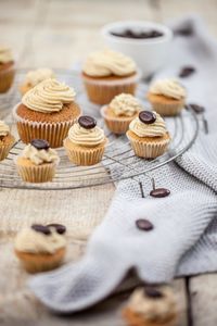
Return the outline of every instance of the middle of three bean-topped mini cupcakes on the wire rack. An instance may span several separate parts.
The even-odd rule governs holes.
[[[68,159],[77,165],[94,165],[102,160],[107,138],[91,116],[82,115],[74,124],[64,148]]]

